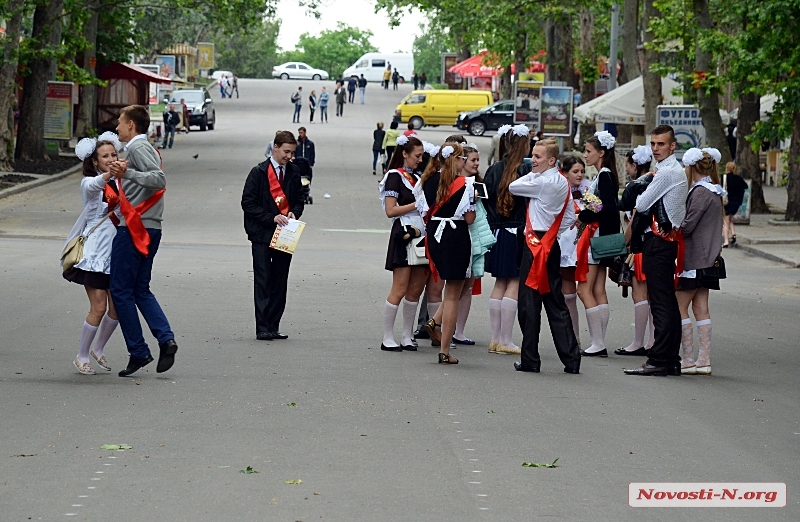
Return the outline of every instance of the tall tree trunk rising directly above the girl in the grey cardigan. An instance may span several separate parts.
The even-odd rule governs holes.
[[[708,0],[694,0],[694,11],[700,30],[711,31],[714,24],[711,21],[711,14],[708,12]],[[700,39],[697,39],[695,54],[697,71],[716,74],[717,71],[712,70],[714,67],[713,56],[702,48]],[[719,115],[719,90],[709,89],[700,83],[697,88],[697,103],[700,106],[703,127],[706,129],[706,141],[722,153],[722,161],[719,165],[719,168],[722,169],[727,162],[731,161],[731,152],[728,149],[728,139],[725,136],[722,117]]]

